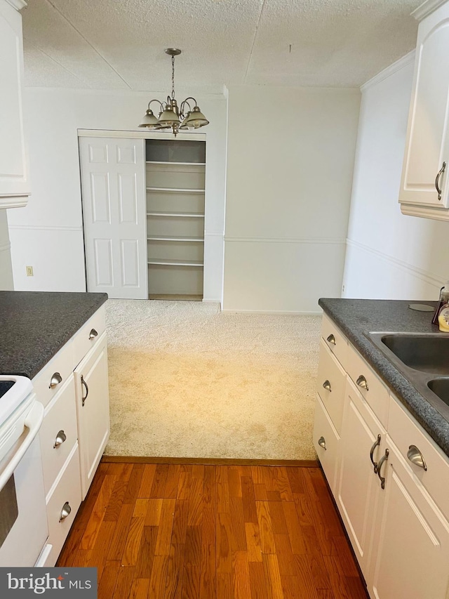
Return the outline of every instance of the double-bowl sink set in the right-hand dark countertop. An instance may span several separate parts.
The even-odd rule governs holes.
[[[372,332],[368,338],[449,421],[449,334]]]

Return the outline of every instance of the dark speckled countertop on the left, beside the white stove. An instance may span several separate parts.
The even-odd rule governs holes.
[[[107,294],[0,291],[0,374],[32,379]]]

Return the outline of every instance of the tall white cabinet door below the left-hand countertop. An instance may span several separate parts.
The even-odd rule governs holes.
[[[106,334],[74,370],[83,499],[109,439]]]

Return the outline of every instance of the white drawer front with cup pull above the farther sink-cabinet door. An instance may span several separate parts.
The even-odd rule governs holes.
[[[389,390],[352,345],[348,346],[347,373],[380,422],[387,426]]]

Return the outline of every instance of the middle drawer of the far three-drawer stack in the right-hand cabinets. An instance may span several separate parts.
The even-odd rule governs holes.
[[[342,428],[345,388],[346,372],[328,349],[326,341],[321,339],[316,390],[339,434]]]

